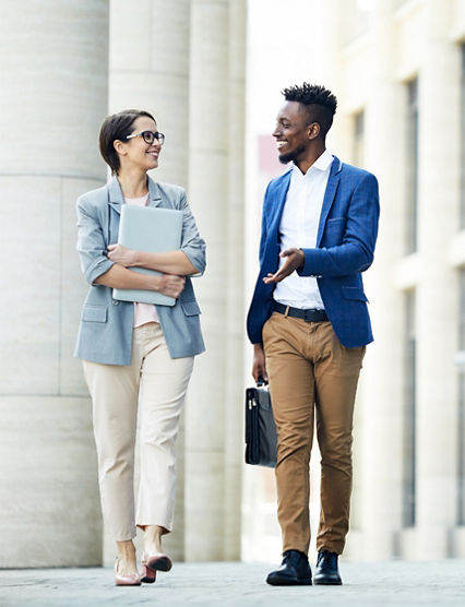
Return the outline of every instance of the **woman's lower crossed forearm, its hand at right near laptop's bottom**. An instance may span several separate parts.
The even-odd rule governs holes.
[[[140,274],[115,263],[107,272],[100,274],[94,284],[111,288],[157,290],[163,295],[177,298],[184,288],[186,278],[172,274],[162,274],[160,276]]]

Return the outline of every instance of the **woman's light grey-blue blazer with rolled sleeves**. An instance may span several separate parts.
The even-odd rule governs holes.
[[[179,186],[156,183],[148,177],[148,206],[178,209],[183,212],[181,250],[202,275],[205,270],[205,242]],[[81,316],[74,356],[106,365],[130,365],[134,306],[112,298],[112,289],[95,285],[98,276],[114,264],[107,255],[108,245],[118,240],[121,205],[124,203],[118,179],[78,199],[78,252],[81,267],[91,285]],[[157,306],[158,318],[171,358],[204,352],[192,282],[175,306]]]

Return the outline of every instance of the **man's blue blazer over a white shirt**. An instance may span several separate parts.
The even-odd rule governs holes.
[[[279,223],[291,170],[273,179],[265,193],[260,241],[260,273],[247,318],[252,344],[273,313],[274,284],[263,277],[279,266]],[[380,206],[378,181],[366,170],[334,156],[314,249],[303,249],[300,276],[315,276],[326,314],[339,342],[357,347],[373,341],[361,272],[373,261]]]

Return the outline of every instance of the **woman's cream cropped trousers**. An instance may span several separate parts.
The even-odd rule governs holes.
[[[176,439],[193,357],[170,358],[162,328],[133,330],[130,367],[83,361],[93,402],[104,517],[116,541],[135,525],[171,531]],[[140,409],[141,478],[134,517],[134,445]]]

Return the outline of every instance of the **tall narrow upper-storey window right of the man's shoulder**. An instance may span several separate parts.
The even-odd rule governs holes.
[[[406,253],[418,247],[418,79],[407,84]]]

